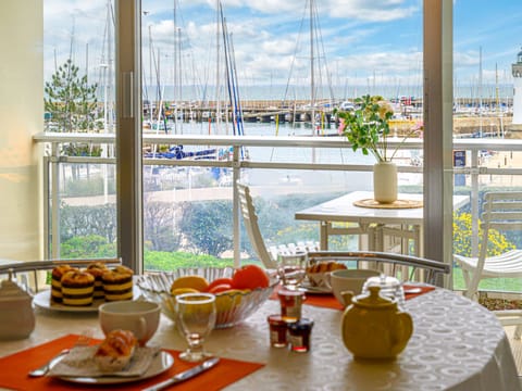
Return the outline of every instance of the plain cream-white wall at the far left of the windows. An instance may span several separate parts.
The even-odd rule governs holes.
[[[42,0],[0,1],[0,258],[41,258]]]

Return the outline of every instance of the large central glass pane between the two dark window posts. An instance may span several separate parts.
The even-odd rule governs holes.
[[[380,17],[372,4],[352,13],[319,1],[283,4],[285,12],[220,1],[141,1],[146,269],[232,264],[234,149],[213,143],[214,137],[340,140],[334,109],[352,110],[366,93],[393,108],[391,141],[408,135],[418,142],[395,160],[400,191],[422,192],[422,9],[407,3],[389,5],[393,16]],[[347,21],[365,33],[347,34]],[[179,142],[178,135],[208,142]],[[351,148],[250,146],[237,161],[273,165],[236,168],[256,188],[269,245],[316,241],[319,226],[296,222],[296,211],[373,186],[374,157]],[[240,238],[241,262],[259,262],[243,225]],[[359,245],[350,237],[336,243]]]

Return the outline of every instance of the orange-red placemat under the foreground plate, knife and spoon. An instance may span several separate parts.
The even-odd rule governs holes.
[[[185,363],[177,356],[178,351],[167,350],[165,352],[171,353],[174,356],[174,365],[165,373],[136,382],[127,382],[121,386],[107,384],[107,386],[90,386],[78,384],[67,382],[60,379],[40,377],[32,378],[27,375],[30,369],[34,369],[51,357],[57,355],[61,350],[71,348],[74,345],[78,336],[69,335],[50,342],[40,344],[35,348],[30,348],[5,357],[0,358],[0,387],[4,387],[13,390],[100,390],[100,389],[121,389],[125,391],[141,390],[146,387],[152,386],[161,380],[178,374],[185,369],[188,369],[196,364]],[[99,340],[95,340],[99,342]],[[245,376],[262,368],[264,364],[248,363],[237,360],[221,358],[220,363],[212,368],[197,377],[175,386],[176,390],[221,390],[224,387],[244,378]]]

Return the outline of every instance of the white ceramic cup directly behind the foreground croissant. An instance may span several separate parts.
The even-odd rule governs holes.
[[[129,330],[144,346],[160,324],[160,305],[147,301],[115,301],[99,307],[99,320],[107,336],[115,329]]]

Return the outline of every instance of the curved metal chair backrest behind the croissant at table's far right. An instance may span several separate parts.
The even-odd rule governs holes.
[[[310,264],[321,261],[356,261],[358,267],[360,267],[360,264],[364,264],[364,266],[370,264],[370,268],[377,268],[378,270],[382,270],[381,266],[390,265],[393,266],[390,270],[384,269],[386,274],[390,275],[396,275],[394,272],[399,266],[405,266],[408,268],[408,275],[400,276],[402,281],[413,280],[412,276],[422,272],[422,281],[432,285],[440,285],[442,276],[450,272],[448,264],[438,261],[377,251],[318,251],[309,252],[308,260]],[[403,270],[403,267],[400,269]]]

